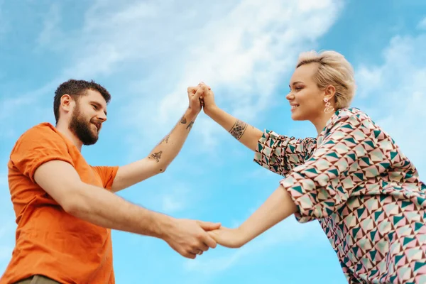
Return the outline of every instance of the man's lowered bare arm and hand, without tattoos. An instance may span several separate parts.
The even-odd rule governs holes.
[[[40,165],[34,180],[65,212],[92,224],[163,239],[187,258],[216,246],[204,230],[217,229],[220,224],[175,219],[126,202],[108,190],[82,182],[75,168],[62,160]]]

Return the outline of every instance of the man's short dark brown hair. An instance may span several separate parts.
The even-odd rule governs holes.
[[[59,85],[55,91],[55,99],[53,99],[53,113],[55,114],[55,120],[58,124],[59,121],[59,106],[60,99],[64,94],[69,94],[72,99],[78,101],[80,96],[87,94],[87,90],[92,89],[102,94],[107,104],[111,100],[111,94],[102,87],[100,84],[95,83],[93,80],[88,82],[84,80],[68,80]]]

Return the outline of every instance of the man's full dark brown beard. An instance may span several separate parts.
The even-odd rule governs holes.
[[[68,129],[82,141],[83,145],[93,145],[99,138],[98,131],[93,131],[90,121],[87,121],[81,114],[79,104],[72,111],[72,118]]]

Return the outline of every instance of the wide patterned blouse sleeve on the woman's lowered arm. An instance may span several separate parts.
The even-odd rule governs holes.
[[[369,157],[375,144],[371,121],[357,116],[337,120],[312,157],[280,181],[296,204],[297,221],[329,217],[342,208],[364,177],[378,175]]]

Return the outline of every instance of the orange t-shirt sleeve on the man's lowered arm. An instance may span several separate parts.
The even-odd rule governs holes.
[[[23,133],[16,141],[10,159],[34,183],[35,170],[50,160],[63,160],[74,166],[65,141],[48,128],[33,128]]]

